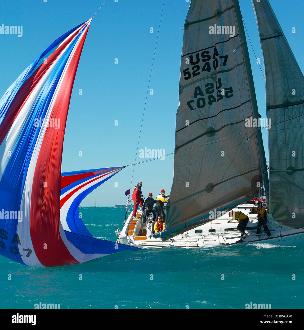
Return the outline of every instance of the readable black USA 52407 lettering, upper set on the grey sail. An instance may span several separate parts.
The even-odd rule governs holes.
[[[190,64],[193,65],[190,68],[183,70],[184,79],[189,80],[191,77],[196,77],[201,74],[201,72],[211,72],[212,68],[216,70],[218,66],[226,66],[228,55],[219,56],[216,47],[213,49],[213,58],[211,60],[211,54],[209,50],[204,50],[201,53],[197,52],[195,54],[189,55]],[[200,61],[204,64],[200,64]],[[187,64],[187,62],[186,62]]]

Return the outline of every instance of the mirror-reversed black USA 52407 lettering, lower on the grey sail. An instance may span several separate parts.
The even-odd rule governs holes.
[[[228,88],[221,88],[222,87],[222,80],[221,78],[218,78],[218,81],[215,82],[215,85],[213,82],[208,82],[205,84],[205,94],[206,97],[208,96],[208,101],[207,103],[209,105],[212,105],[214,102],[218,102],[224,98],[230,98],[233,97],[233,88],[228,87]],[[215,90],[216,92],[216,97],[212,95]],[[202,109],[205,108],[206,106],[206,99],[205,99],[205,94],[203,93],[202,89],[200,86],[196,86],[194,88],[194,99],[190,100],[187,102],[187,105],[189,109],[192,111],[194,109]],[[200,96],[198,98],[198,96]],[[195,102],[196,99],[196,103]]]

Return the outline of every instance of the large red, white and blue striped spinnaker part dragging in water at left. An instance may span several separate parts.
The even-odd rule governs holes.
[[[130,249],[60,222],[63,137],[90,22],[53,42],[0,100],[0,253],[21,264],[61,266]]]

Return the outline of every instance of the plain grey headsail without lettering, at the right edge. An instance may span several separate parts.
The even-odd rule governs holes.
[[[266,81],[269,217],[304,226],[304,77],[268,0],[253,1]]]

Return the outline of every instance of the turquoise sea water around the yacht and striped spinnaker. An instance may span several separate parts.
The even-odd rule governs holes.
[[[122,229],[124,211],[80,208],[92,235],[111,241],[116,223]],[[34,308],[39,302],[61,309],[245,308],[250,302],[303,308],[303,260],[304,249],[269,244],[124,251],[47,269],[0,256],[0,308]]]

